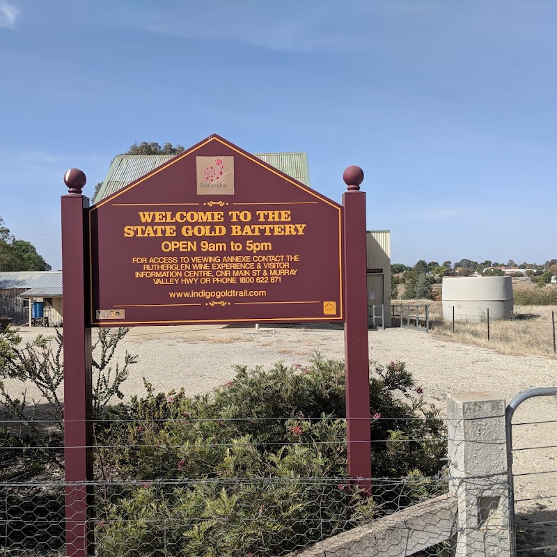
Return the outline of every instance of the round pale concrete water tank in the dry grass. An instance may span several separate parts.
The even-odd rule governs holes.
[[[515,297],[510,276],[462,276],[443,278],[443,316],[459,321],[505,319],[512,316]]]

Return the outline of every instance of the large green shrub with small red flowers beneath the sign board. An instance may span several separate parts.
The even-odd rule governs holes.
[[[372,498],[346,480],[343,362],[238,367],[194,398],[146,385],[146,398],[107,407],[125,421],[97,430],[122,446],[99,451],[102,469],[143,482],[104,495],[100,556],[278,555],[439,491],[427,476],[446,455],[444,423],[404,363],[370,372],[371,436],[384,441],[372,444],[373,476],[391,478]]]

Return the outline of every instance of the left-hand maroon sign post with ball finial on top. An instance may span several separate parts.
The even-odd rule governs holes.
[[[91,423],[91,328],[86,326],[86,209],[81,194],[85,174],[64,175],[62,196],[62,268],[64,292],[64,459],[65,542],[68,557],[93,554],[93,424]]]

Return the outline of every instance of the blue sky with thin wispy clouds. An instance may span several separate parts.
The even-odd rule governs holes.
[[[391,260],[557,258],[555,0],[0,0],[0,217],[61,268],[63,174],[216,133],[363,168]]]

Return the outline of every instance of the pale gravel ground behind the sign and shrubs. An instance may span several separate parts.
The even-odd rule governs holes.
[[[21,329],[24,340],[31,340],[37,332],[38,329]],[[441,409],[445,408],[449,393],[499,393],[508,402],[526,389],[557,385],[556,362],[540,356],[497,354],[409,329],[370,331],[369,340],[371,359],[383,364],[404,361],[416,384],[423,387],[427,400]],[[275,332],[256,332],[253,327],[219,325],[137,327],[120,343],[120,359],[124,350],[139,356],[139,363],[133,366],[130,379],[123,386],[127,396],[145,392],[143,377],[153,384],[155,392],[183,386],[193,395],[210,392],[230,381],[235,364],[271,366],[283,361],[303,365],[309,363],[316,350],[327,358],[342,359],[344,340],[340,328],[277,327]],[[6,384],[13,393],[19,389],[17,384]],[[36,395],[32,391],[29,394]],[[555,421],[556,410],[554,397],[531,399],[519,407],[513,423]],[[516,426],[514,446],[555,445],[556,430],[556,423]],[[515,453],[515,473],[548,470],[557,470],[555,448]],[[557,544],[557,528],[533,524],[557,521],[557,472],[518,476],[515,487],[517,500],[534,499],[518,503],[524,520],[531,523],[528,531],[540,536],[535,538],[538,544]],[[552,554],[556,555],[557,550]]]

